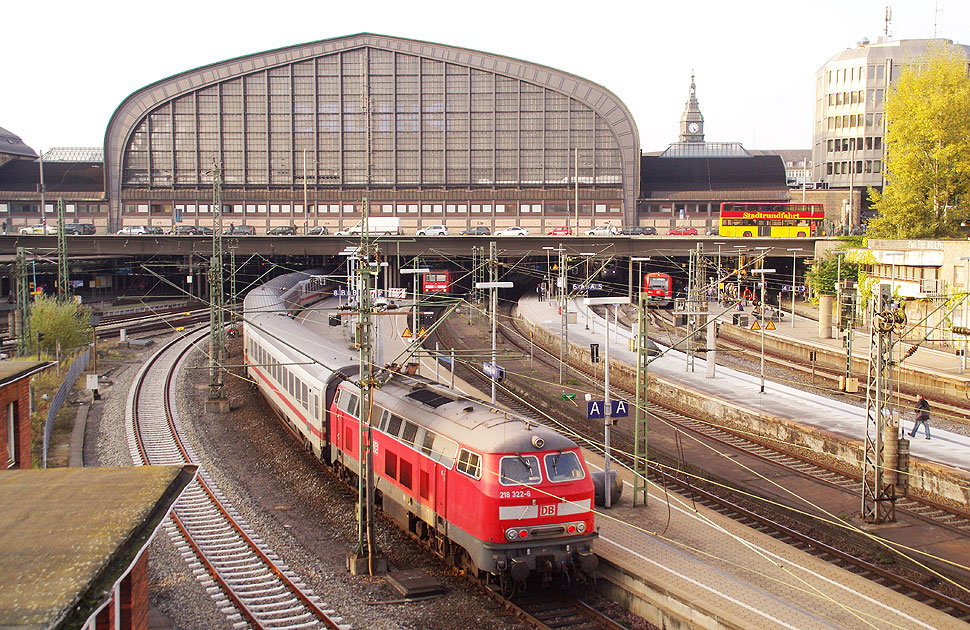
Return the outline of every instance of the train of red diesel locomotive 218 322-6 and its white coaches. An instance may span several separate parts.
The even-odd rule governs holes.
[[[287,313],[324,297],[288,274],[244,302],[250,376],[304,446],[345,475],[360,471],[358,357]],[[593,482],[577,445],[527,419],[399,373],[368,410],[376,500],[401,527],[508,590],[533,575],[592,578]]]

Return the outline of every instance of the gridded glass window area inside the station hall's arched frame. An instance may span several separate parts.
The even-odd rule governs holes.
[[[367,72],[363,72],[364,68]],[[379,49],[253,72],[152,110],[125,150],[124,183],[300,187],[563,185],[620,182],[609,125],[528,81]],[[578,156],[575,149],[578,149]],[[303,154],[306,152],[306,171]]]

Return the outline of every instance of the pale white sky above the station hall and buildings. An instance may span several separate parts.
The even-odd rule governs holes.
[[[706,139],[808,149],[814,77],[883,34],[970,44],[966,0],[4,2],[0,127],[35,150],[103,146],[132,92],[185,70],[370,32],[531,61],[613,91],[644,151],[677,139],[691,70]]]

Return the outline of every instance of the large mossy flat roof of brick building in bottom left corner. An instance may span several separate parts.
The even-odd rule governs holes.
[[[0,472],[0,627],[80,627],[197,468]]]

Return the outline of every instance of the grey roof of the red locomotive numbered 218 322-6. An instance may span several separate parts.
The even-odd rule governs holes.
[[[576,448],[576,443],[555,430],[491,407],[432,381],[395,375],[375,395],[388,411],[486,453],[520,453]],[[543,441],[537,448],[534,438]]]

